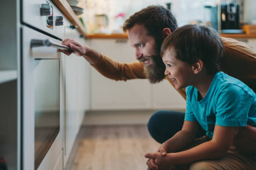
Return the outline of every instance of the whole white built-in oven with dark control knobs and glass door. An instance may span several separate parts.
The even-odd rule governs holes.
[[[63,169],[63,16],[46,0],[23,0],[21,9],[21,166]]]

